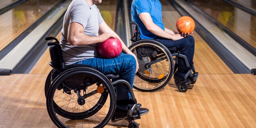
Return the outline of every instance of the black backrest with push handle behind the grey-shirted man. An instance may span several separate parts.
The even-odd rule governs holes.
[[[49,52],[51,56],[50,65],[57,70],[58,72],[62,72],[65,69],[62,51],[61,51],[61,45],[59,44],[58,39],[54,37],[46,37],[46,40],[55,40],[55,42],[47,43],[49,46]]]

